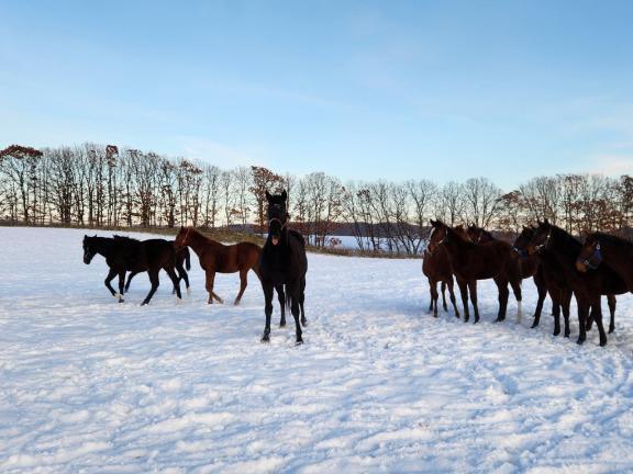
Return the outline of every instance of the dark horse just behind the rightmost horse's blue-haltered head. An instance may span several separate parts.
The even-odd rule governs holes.
[[[532,255],[541,249],[551,250],[558,263],[565,271],[565,278],[578,306],[578,343],[581,345],[587,339],[587,329],[591,328],[591,323],[596,320],[598,331],[600,332],[600,346],[607,345],[607,334],[602,325],[602,308],[600,296],[607,295],[609,308],[611,311],[611,321],[609,332],[615,329],[615,296],[617,294],[626,293],[624,281],[608,266],[581,273],[576,269],[576,260],[580,253],[582,244],[580,244],[570,234],[563,230],[547,219],[540,223],[535,229],[528,251]],[[591,309],[591,314],[589,314]]]

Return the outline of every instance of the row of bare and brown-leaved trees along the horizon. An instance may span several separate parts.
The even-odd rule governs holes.
[[[265,167],[221,169],[186,158],[84,144],[0,151],[0,218],[11,224],[88,227],[238,227],[262,232],[265,192],[286,189],[289,213],[311,245],[417,255],[430,218],[503,233],[548,218],[582,235],[633,226],[633,177],[536,177],[503,192],[487,178],[437,184],[346,182],[323,172],[278,174]]]

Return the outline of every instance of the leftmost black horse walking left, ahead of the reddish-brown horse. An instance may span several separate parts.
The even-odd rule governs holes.
[[[152,289],[141,305],[146,305],[158,289],[158,272],[165,270],[174,287],[178,300],[181,298],[178,276],[175,272],[176,250],[169,240],[148,239],[136,240],[130,237],[114,236],[109,237],[88,237],[84,236],[84,263],[89,264],[97,255],[106,258],[106,263],[110,267],[110,272],[106,278],[106,287],[112,293],[112,296],[123,303],[123,283],[125,282],[125,272],[134,273],[146,271],[152,283]],[[119,293],[110,285],[112,279],[119,275]]]

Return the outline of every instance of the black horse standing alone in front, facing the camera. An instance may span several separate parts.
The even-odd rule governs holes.
[[[270,340],[270,316],[273,315],[273,293],[275,287],[286,286],[286,304],[295,317],[297,343],[303,343],[301,325],[307,326],[303,302],[306,298],[306,241],[297,230],[288,228],[287,193],[271,195],[266,191],[268,200],[268,238],[262,249],[259,273],[264,298],[266,301],[266,326],[262,342]],[[281,300],[280,300],[281,301]],[[301,311],[301,324],[299,324]],[[284,320],[281,326],[284,326]]]

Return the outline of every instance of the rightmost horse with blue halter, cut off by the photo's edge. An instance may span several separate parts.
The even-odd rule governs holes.
[[[633,293],[633,241],[610,234],[589,234],[576,259],[576,268],[587,272],[596,270],[602,261],[624,280]]]

